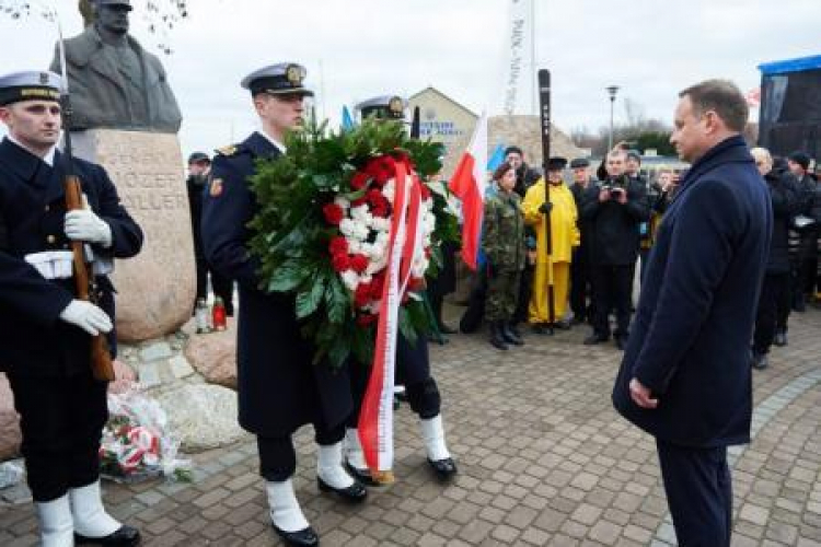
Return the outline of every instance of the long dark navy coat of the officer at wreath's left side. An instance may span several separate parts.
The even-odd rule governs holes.
[[[258,259],[248,254],[248,221],[257,211],[248,177],[256,159],[279,150],[254,132],[218,154],[203,202],[203,247],[216,271],[236,280],[240,424],[264,437],[285,437],[314,422],[335,427],[351,412],[347,370],[312,364],[313,348],[300,334],[294,300],[258,289]]]

